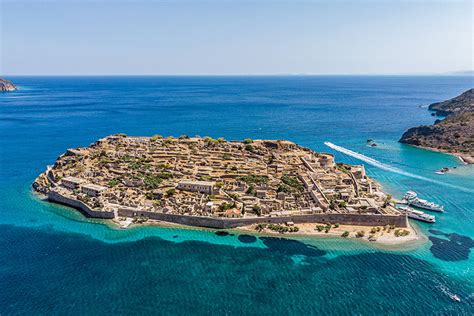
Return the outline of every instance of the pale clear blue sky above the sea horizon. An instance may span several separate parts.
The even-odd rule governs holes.
[[[0,0],[0,75],[443,73],[471,1]]]

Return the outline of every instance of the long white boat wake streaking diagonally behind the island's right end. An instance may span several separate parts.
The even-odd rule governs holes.
[[[411,172],[408,172],[408,171],[404,171],[404,170],[399,169],[397,167],[394,167],[394,166],[385,164],[383,162],[380,162],[376,159],[373,159],[373,158],[367,157],[365,155],[359,154],[359,153],[357,153],[355,151],[352,151],[350,149],[335,145],[331,142],[324,142],[324,145],[326,145],[329,148],[332,148],[332,149],[334,149],[338,152],[341,152],[343,154],[346,154],[346,155],[351,156],[353,158],[356,158],[358,160],[364,161],[364,162],[368,163],[371,166],[374,166],[376,168],[379,168],[379,169],[382,169],[382,170],[385,170],[385,171],[398,173],[398,174],[406,176],[406,177],[410,177],[410,178],[414,178],[414,179],[418,179],[418,180],[422,180],[422,181],[427,181],[427,182],[435,183],[435,184],[438,184],[438,185],[443,185],[443,186],[446,186],[446,187],[451,187],[453,189],[461,190],[461,191],[464,191],[464,192],[474,193],[474,190],[470,190],[468,188],[464,188],[464,187],[457,186],[457,185],[450,184],[450,183],[437,181],[437,180],[430,179],[430,178],[427,178],[427,177],[423,177],[423,176],[420,176],[420,175],[417,175],[417,174],[414,174],[414,173],[411,173]]]

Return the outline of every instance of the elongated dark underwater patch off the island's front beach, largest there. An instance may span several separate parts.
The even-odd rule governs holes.
[[[305,255],[308,257],[321,257],[326,254],[326,251],[319,249],[316,246],[307,245],[297,240],[275,238],[275,237],[260,237],[265,246],[270,250],[281,252],[285,255]]]

